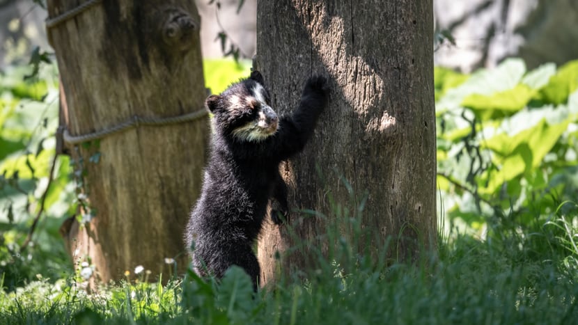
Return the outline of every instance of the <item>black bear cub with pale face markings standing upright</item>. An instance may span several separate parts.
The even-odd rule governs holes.
[[[279,210],[272,212],[276,224],[288,215],[279,164],[304,148],[327,106],[328,93],[325,77],[311,77],[297,110],[279,118],[263,76],[253,71],[221,95],[207,98],[205,106],[214,114],[211,153],[201,197],[185,232],[187,247],[194,242],[192,265],[199,276],[221,278],[237,265],[257,290],[260,267],[252,246],[269,200],[276,200]]]

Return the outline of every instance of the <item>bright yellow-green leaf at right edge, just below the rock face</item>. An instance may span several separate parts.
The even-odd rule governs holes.
[[[540,90],[540,100],[552,104],[562,104],[568,95],[578,88],[578,60],[563,65],[548,84]]]

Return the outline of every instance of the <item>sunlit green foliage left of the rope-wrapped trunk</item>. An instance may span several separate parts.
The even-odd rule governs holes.
[[[9,290],[37,275],[56,280],[70,271],[58,233],[72,205],[68,159],[54,161],[54,180],[47,189],[58,124],[56,69],[36,56],[31,68],[8,67],[0,79],[0,271]],[[20,246],[41,209],[44,231],[34,234],[24,251]]]

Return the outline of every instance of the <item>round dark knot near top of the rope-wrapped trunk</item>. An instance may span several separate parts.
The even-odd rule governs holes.
[[[170,51],[188,51],[193,46],[193,33],[198,30],[196,22],[185,10],[168,8],[164,10],[161,37]]]

